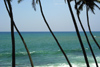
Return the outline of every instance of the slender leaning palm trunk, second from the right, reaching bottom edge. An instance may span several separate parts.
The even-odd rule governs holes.
[[[75,0],[75,4],[76,4],[76,0]],[[89,42],[88,36],[87,36],[87,34],[86,34],[86,32],[85,32],[85,29],[84,29],[84,27],[83,27],[83,25],[82,25],[82,22],[81,22],[81,19],[80,19],[80,16],[79,16],[79,11],[77,10],[77,5],[76,5],[76,8],[75,8],[75,9],[76,9],[76,12],[77,12],[77,17],[78,17],[79,23],[80,23],[80,25],[81,25],[81,28],[82,28],[84,34],[85,34],[85,37],[86,37],[87,43],[88,43],[88,45],[89,45],[89,47],[90,47],[92,56],[93,56],[93,58],[94,58],[94,60],[95,60],[96,67],[98,67],[98,63],[97,63],[95,54],[94,54],[93,49],[92,49],[92,47],[91,47],[91,44],[90,44],[90,42]]]

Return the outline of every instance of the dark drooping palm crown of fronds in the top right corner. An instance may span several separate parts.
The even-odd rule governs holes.
[[[75,9],[80,13],[80,11],[83,10],[83,6],[86,5],[94,13],[94,7],[100,9],[100,7],[95,3],[100,4],[100,0],[77,0]]]

